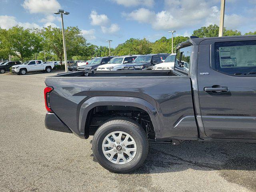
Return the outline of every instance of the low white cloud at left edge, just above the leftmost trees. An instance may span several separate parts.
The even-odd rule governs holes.
[[[2,29],[9,29],[16,25],[22,26],[24,28],[42,28],[36,23],[18,22],[14,16],[8,16],[8,15],[0,16],[0,27]]]

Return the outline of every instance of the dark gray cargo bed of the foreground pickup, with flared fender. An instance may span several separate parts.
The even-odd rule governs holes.
[[[53,88],[52,110],[81,138],[85,119],[94,105],[133,104],[152,114],[156,139],[197,139],[191,80],[181,72],[79,71],[46,77],[45,83]]]

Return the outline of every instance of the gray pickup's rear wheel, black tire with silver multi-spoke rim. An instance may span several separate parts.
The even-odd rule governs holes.
[[[92,151],[105,169],[116,173],[128,173],[139,168],[145,161],[148,155],[148,138],[136,121],[124,117],[110,118],[95,132]],[[108,154],[109,151],[111,153]]]

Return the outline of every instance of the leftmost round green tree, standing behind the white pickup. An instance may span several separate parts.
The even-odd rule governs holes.
[[[42,50],[42,38],[31,29],[14,26],[1,31],[1,46],[4,52],[17,56],[22,62]]]

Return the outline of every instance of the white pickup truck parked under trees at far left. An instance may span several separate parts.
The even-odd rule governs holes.
[[[51,72],[54,68],[54,63],[43,63],[42,60],[31,60],[27,61],[24,64],[12,66],[12,72],[14,74],[25,75],[27,72],[32,71],[42,71],[42,72]]]

